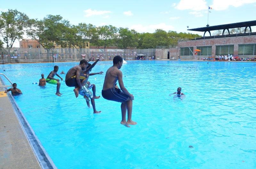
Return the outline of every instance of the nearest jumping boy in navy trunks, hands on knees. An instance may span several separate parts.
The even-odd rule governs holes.
[[[112,100],[115,102],[121,102],[121,124],[123,124],[126,127],[130,127],[130,125],[137,124],[136,122],[132,121],[132,100],[134,100],[134,96],[130,94],[128,90],[124,87],[123,74],[119,70],[122,67],[122,65],[123,58],[121,56],[115,56],[113,59],[113,66],[110,67],[106,72],[101,94],[104,99]],[[122,91],[116,85],[117,80]],[[126,109],[128,111],[127,121]]]

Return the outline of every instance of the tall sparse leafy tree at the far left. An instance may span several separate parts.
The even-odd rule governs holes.
[[[22,39],[25,29],[30,25],[28,16],[17,10],[8,9],[0,15],[0,36],[3,38],[8,52],[15,40]]]

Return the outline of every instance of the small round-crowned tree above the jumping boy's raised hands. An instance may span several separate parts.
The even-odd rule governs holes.
[[[104,41],[104,49],[107,46],[108,40],[113,40],[116,38],[117,28],[112,25],[105,25],[98,27],[98,34],[101,40]]]

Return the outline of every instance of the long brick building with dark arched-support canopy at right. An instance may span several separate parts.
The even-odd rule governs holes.
[[[254,58],[256,56],[256,32],[252,32],[251,26],[255,25],[256,21],[247,21],[189,29],[190,31],[204,32],[204,35],[206,32],[209,32],[210,36],[195,39],[180,39],[177,47],[169,48],[169,57],[166,51],[159,51],[156,55],[161,59],[171,59],[171,57],[174,57],[175,59],[180,58],[181,60],[193,60],[195,59],[195,49],[199,49],[201,52],[197,53],[197,58],[207,58],[208,56],[217,57],[228,54],[243,58]],[[244,27],[244,33],[229,34],[230,28],[241,27]],[[247,28],[250,30],[249,33],[245,33]],[[222,35],[211,36],[210,31],[214,30],[223,30]],[[224,35],[225,30],[228,30],[228,35]]]

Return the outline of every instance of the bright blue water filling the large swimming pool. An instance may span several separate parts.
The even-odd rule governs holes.
[[[58,168],[256,167],[256,63],[128,61],[121,70],[135,98],[131,128],[120,124],[120,103],[101,97],[102,113],[93,114],[64,81],[61,97],[54,85],[32,84],[55,64],[60,73],[78,62],[1,65],[0,72],[23,92],[15,100]],[[92,72],[111,65],[99,62]],[[104,77],[89,78],[96,95]],[[169,96],[178,87],[185,98]]]

